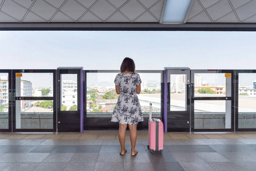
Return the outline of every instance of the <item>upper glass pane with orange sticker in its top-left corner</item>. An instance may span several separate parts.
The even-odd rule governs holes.
[[[53,97],[53,73],[16,73],[16,97]]]

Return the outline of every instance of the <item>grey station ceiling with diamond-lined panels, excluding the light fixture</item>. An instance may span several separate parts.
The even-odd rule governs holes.
[[[256,0],[192,0],[184,23],[178,24],[162,23],[165,4],[166,0],[0,0],[0,30],[256,30]]]

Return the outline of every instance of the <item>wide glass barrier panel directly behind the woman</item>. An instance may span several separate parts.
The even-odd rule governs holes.
[[[119,95],[114,80],[118,73],[87,73],[87,117],[112,117]],[[152,117],[161,113],[161,74],[139,73],[141,93],[138,96],[144,117],[149,117],[149,103],[152,103]]]

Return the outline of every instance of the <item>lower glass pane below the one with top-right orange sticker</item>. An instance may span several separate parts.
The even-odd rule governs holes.
[[[230,129],[231,100],[194,100],[195,129]]]

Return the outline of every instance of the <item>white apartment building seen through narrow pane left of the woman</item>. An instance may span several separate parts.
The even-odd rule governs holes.
[[[72,105],[78,105],[78,83],[73,80],[63,80],[62,82],[62,104],[67,110]]]

